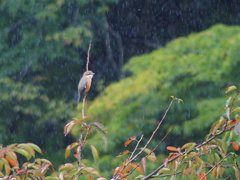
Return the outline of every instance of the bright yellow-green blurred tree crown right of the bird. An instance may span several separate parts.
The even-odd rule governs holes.
[[[171,95],[184,104],[174,105],[159,136],[175,127],[171,143],[203,138],[224,113],[223,87],[238,83],[239,39],[239,27],[216,25],[130,59],[124,68],[132,76],[108,86],[87,113],[107,125],[110,151],[127,137],[150,134]]]

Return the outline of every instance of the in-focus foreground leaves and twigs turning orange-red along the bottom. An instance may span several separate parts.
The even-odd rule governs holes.
[[[149,144],[154,142],[156,134],[160,130],[162,122],[165,120],[174,101],[181,102],[181,99],[172,97],[168,108],[165,110],[165,115],[158,122],[158,125],[152,130],[151,137],[147,142],[142,143],[144,135],[140,138],[132,136],[124,143],[124,146],[129,147],[130,144],[135,145],[133,150],[125,150],[117,157],[104,156],[100,159],[99,169],[105,176],[111,179],[120,180],[126,178],[134,179],[150,179],[153,177],[177,177],[184,178],[199,178],[206,180],[211,173],[212,178],[229,177],[233,175],[236,179],[240,178],[239,172],[239,157],[234,151],[239,151],[240,139],[240,116],[239,116],[239,96],[240,90],[236,86],[229,86],[226,93],[235,91],[235,94],[230,96],[225,105],[226,113],[219,120],[212,124],[204,141],[201,143],[185,143],[181,147],[167,146],[170,151],[168,157],[156,156],[156,149],[161,145],[162,141],[169,133],[158,142],[153,149],[148,148]],[[234,116],[234,120],[230,117]],[[53,164],[47,159],[35,157],[35,152],[42,153],[41,149],[33,143],[10,144],[6,147],[0,145],[0,177],[4,179],[93,179],[106,180],[101,177],[97,167],[99,161],[98,148],[89,143],[89,136],[96,130],[99,136],[106,134],[105,127],[99,122],[91,122],[89,118],[82,119],[72,118],[72,121],[66,124],[64,134],[67,135],[72,131],[73,127],[78,126],[79,138],[76,142],[67,146],[65,158],[69,156],[75,157],[72,163],[65,163],[59,166],[58,170],[54,170]],[[96,128],[97,127],[97,128]],[[88,145],[92,151],[95,164],[91,163],[90,159],[86,159],[85,146]],[[73,154],[71,152],[74,152]],[[20,163],[19,155],[24,156],[27,161]],[[119,159],[118,159],[119,158]],[[106,168],[106,164],[110,162],[113,166],[117,166],[113,175]],[[149,164],[149,162],[151,162]],[[103,163],[103,164],[102,164]],[[153,166],[156,165],[156,167]],[[209,169],[209,170],[208,170]],[[229,171],[230,169],[231,171]],[[48,173],[51,173],[48,175]]]

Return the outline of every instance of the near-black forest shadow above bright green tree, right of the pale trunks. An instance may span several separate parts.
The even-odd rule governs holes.
[[[107,20],[111,32],[121,37],[126,62],[134,55],[164,47],[169,40],[216,23],[237,25],[239,6],[238,0],[119,0],[111,5]],[[118,45],[119,38],[111,32],[112,46],[114,42]],[[114,57],[120,59],[116,53]]]

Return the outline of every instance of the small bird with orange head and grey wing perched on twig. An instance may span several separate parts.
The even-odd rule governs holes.
[[[94,73],[92,71],[86,71],[83,73],[82,78],[80,79],[78,83],[78,102],[79,104],[81,93],[85,96],[89,89],[91,88],[92,78]]]

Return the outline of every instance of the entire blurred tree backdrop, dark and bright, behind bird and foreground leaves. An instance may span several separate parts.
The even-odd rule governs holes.
[[[230,26],[239,24],[238,7],[224,0],[2,0],[0,143],[36,143],[53,163],[65,161],[76,136],[64,137],[63,127],[81,116],[76,87],[91,38],[96,76],[86,110],[109,131],[108,147],[91,139],[100,168],[112,170],[120,160],[109,159],[128,137],[150,135],[171,95],[184,104],[158,134],[175,127],[159,153],[201,140],[224,113],[223,89],[239,86],[239,27]],[[216,23],[226,25],[210,28]]]

